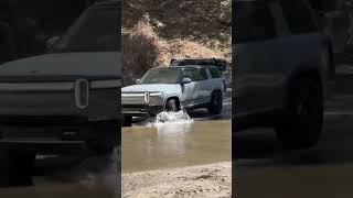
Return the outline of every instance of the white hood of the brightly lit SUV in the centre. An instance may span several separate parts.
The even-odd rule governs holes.
[[[124,87],[121,92],[163,92],[165,95],[175,94],[181,90],[180,84],[140,84]]]

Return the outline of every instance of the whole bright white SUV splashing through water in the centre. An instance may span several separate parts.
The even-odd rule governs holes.
[[[207,108],[220,114],[224,82],[217,67],[175,66],[152,68],[138,85],[121,89],[124,124],[132,117],[150,117],[161,111]]]

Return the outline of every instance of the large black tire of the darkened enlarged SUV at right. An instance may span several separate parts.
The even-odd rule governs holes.
[[[286,148],[308,148],[319,141],[323,120],[323,97],[320,80],[296,80],[277,136]]]

